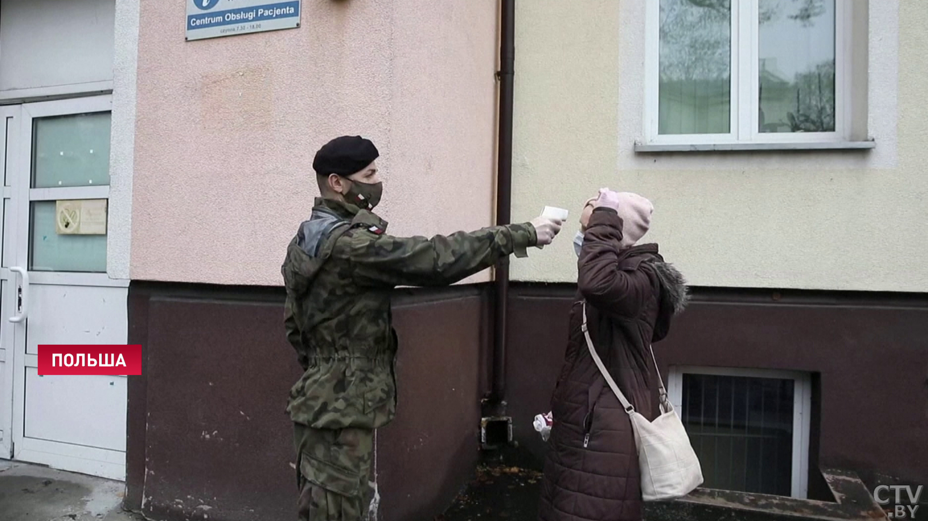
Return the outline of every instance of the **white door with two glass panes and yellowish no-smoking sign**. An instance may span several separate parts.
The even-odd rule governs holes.
[[[40,376],[36,360],[40,344],[126,343],[128,281],[107,276],[107,235],[67,233],[66,222],[109,199],[110,99],[7,108],[17,132],[6,136],[0,337],[12,358],[13,458],[122,480],[126,377]]]

